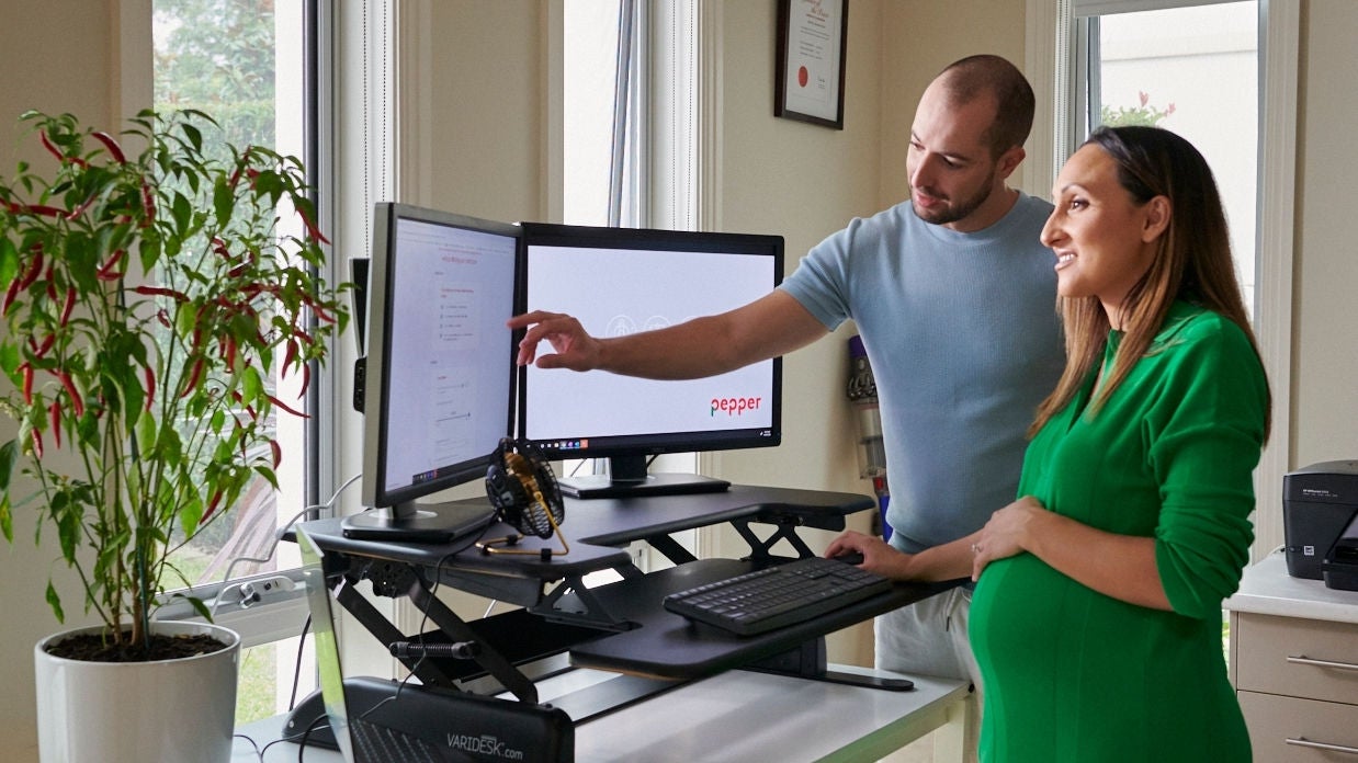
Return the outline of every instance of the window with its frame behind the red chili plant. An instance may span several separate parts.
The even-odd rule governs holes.
[[[201,109],[236,147],[259,144],[299,156],[319,189],[322,167],[314,124],[319,99],[311,86],[316,65],[310,43],[316,37],[318,5],[315,0],[153,0],[156,109]],[[280,380],[273,383],[281,399],[297,398]],[[304,401],[307,409],[319,410],[318,391],[325,386],[312,384]],[[287,587],[276,587],[281,595],[246,607],[239,587],[261,576],[300,576],[295,550],[288,543],[277,544],[276,536],[320,496],[318,464],[326,448],[318,418],[277,415],[272,424],[282,445],[278,490],[257,478],[223,521],[209,525],[174,555],[197,596],[217,597],[209,603],[215,619],[242,634],[238,722],[287,710],[293,698],[306,600],[300,593],[287,595]],[[167,610],[172,610],[170,616],[190,615],[174,604]],[[299,692],[311,688],[306,676],[312,672],[297,672],[303,676]]]

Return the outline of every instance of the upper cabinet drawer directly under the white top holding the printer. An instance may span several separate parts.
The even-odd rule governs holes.
[[[1240,612],[1236,688],[1358,705],[1358,625]]]

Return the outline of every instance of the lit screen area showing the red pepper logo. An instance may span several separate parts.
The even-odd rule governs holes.
[[[762,254],[527,247],[530,310],[566,312],[595,337],[661,329],[769,293],[779,262]],[[539,353],[551,352],[543,345]],[[524,432],[559,451],[589,437],[748,430],[774,424],[773,361],[684,382],[602,371],[527,369]]]

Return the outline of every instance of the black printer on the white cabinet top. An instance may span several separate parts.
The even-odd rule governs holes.
[[[1358,591],[1358,460],[1291,471],[1282,491],[1287,574]]]

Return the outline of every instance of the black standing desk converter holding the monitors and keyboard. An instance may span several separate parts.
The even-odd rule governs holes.
[[[340,520],[307,523],[308,535],[334,565],[327,582],[337,600],[382,644],[394,641],[473,642],[475,660],[403,657],[422,683],[478,694],[505,690],[523,702],[538,702],[532,668],[566,656],[573,667],[627,673],[630,688],[614,687],[608,696],[583,698],[576,706],[554,703],[577,722],[631,699],[731,668],[756,667],[803,677],[849,680],[826,671],[823,637],[911,604],[951,584],[899,582],[885,593],[785,629],[737,637],[665,611],[667,593],[748,572],[774,559],[771,548],[786,540],[799,555],[812,551],[796,535],[799,527],[839,531],[850,513],[873,508],[865,496],[732,486],[722,493],[646,498],[566,500],[562,531],[566,555],[482,554],[467,539],[447,544],[373,542],[345,538]],[[697,559],[669,534],[731,523],[750,544],[743,559]],[[763,535],[760,534],[760,525]],[[492,525],[488,538],[512,532]],[[622,548],[642,540],[676,566],[642,574]],[[555,548],[557,539],[527,538],[523,550]],[[584,576],[617,570],[617,582],[587,588]],[[407,596],[437,626],[407,637],[387,620],[352,584],[369,580],[382,596]],[[466,622],[445,607],[436,585],[488,596],[523,607]],[[619,682],[610,682],[619,683]],[[631,694],[617,694],[618,691]]]

